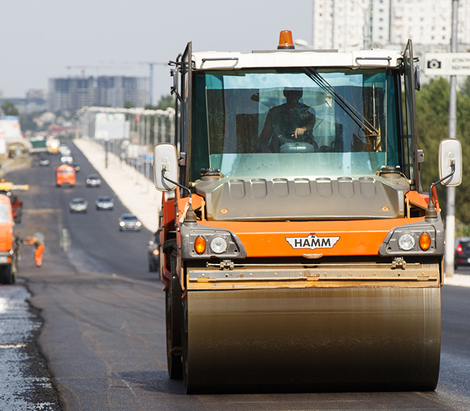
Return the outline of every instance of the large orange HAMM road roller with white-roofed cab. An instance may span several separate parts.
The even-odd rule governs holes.
[[[168,373],[186,393],[434,390],[444,139],[423,191],[404,51],[184,53],[154,147]],[[437,177],[439,175],[439,177]]]

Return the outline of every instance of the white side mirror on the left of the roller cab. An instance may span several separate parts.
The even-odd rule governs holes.
[[[178,156],[173,144],[160,143],[154,147],[153,177],[158,191],[172,191],[176,188],[172,181],[178,181]]]

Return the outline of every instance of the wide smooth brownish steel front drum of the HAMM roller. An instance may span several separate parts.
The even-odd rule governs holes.
[[[434,390],[439,288],[190,291],[188,393]]]

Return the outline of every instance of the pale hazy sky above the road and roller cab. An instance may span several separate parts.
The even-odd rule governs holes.
[[[140,62],[184,51],[275,49],[281,30],[312,38],[312,0],[2,0],[0,89],[24,97],[51,77],[148,76]],[[71,68],[67,68],[71,67]],[[154,100],[169,93],[155,66]]]

